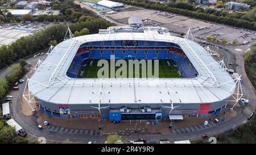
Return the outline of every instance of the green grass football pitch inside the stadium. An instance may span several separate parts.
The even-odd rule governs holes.
[[[102,68],[102,66],[97,66],[98,59],[86,59],[82,63],[80,72],[78,74],[78,78],[98,78],[98,70]],[[107,60],[109,62],[109,78],[110,78],[110,60]],[[125,60],[127,62],[127,70],[126,75],[124,75],[121,72],[121,75],[124,77],[129,76],[128,71],[128,60]],[[147,61],[147,60],[146,60]],[[117,60],[115,60],[117,62]],[[120,66],[115,66],[115,71],[117,71],[120,68]],[[116,73],[116,72],[115,72]],[[152,60],[152,74],[154,76],[154,60]],[[133,77],[142,77],[142,67],[140,66],[139,69],[139,75],[135,75],[135,68],[133,68]],[[177,71],[176,66],[174,66],[174,62],[172,60],[159,60],[159,78],[180,78],[180,74]]]

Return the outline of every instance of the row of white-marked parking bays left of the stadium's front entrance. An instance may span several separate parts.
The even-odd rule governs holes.
[[[102,136],[102,131],[95,130],[95,129],[64,128],[64,127],[56,127],[53,125],[48,125],[46,130],[50,132],[59,132],[59,133],[68,134],[68,135]]]

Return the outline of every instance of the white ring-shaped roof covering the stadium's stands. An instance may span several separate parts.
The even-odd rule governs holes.
[[[225,100],[234,93],[233,78],[194,41],[171,36],[168,32],[159,33],[159,28],[142,27],[143,32],[133,33],[114,32],[117,29],[109,28],[106,33],[74,37],[58,44],[46,60],[40,62],[39,68],[29,79],[28,86],[31,93],[40,100],[57,104],[170,103],[171,95],[173,103],[213,103]],[[69,65],[80,45],[90,41],[104,40],[176,43],[195,66],[199,76],[192,79],[67,77]],[[207,65],[212,63],[213,65]],[[231,82],[223,84],[228,81]],[[172,92],[167,89],[167,86]]]

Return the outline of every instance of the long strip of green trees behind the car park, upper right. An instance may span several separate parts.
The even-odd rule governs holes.
[[[174,14],[189,16],[191,18],[207,20],[220,24],[226,24],[234,27],[242,27],[250,30],[256,30],[254,18],[248,18],[245,13],[229,13],[228,11],[217,11],[214,9],[203,9],[191,5],[188,1],[175,1],[168,3],[159,3],[148,0],[113,0],[145,9],[167,11]]]

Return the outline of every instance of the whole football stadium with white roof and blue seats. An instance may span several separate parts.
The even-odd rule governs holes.
[[[183,119],[221,112],[236,91],[209,49],[166,28],[109,27],[51,48],[28,79],[43,112],[110,121]],[[159,60],[159,78],[97,78],[97,61]],[[161,76],[162,74],[162,76]]]

